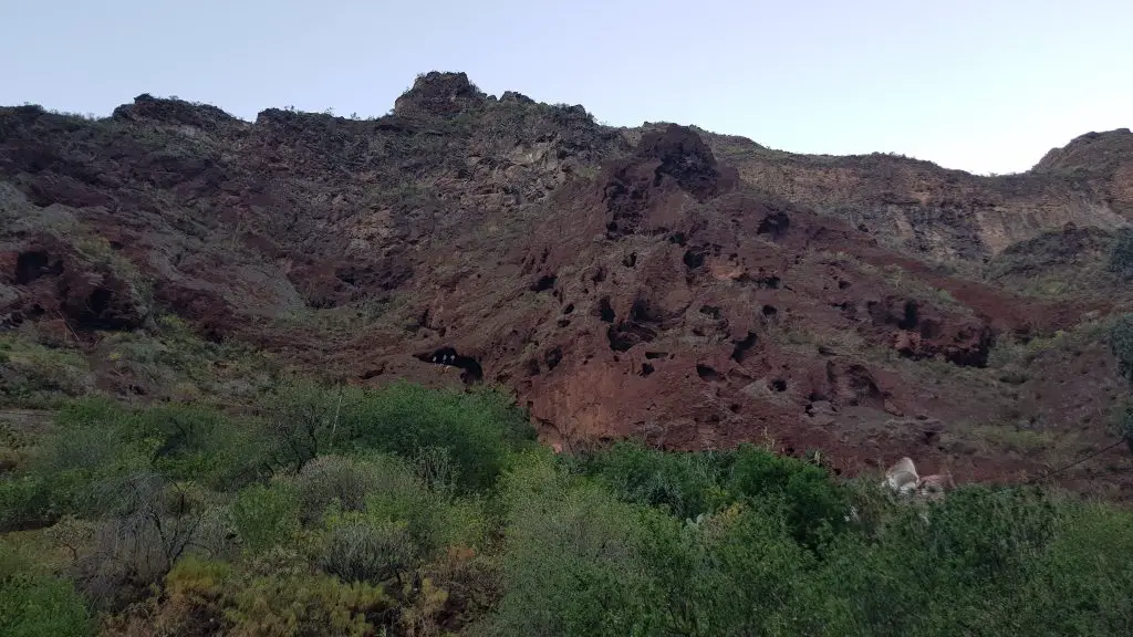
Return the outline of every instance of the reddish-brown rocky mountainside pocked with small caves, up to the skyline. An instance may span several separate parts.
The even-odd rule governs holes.
[[[1008,343],[1124,301],[983,263],[1125,224],[1123,136],[980,178],[613,129],[437,73],[369,120],[0,109],[0,316],[96,343],[168,312],[340,381],[499,383],[562,448],[773,440],[840,472],[1015,478],[1109,440],[1125,389],[1098,339]],[[1125,489],[1106,462],[1067,484]]]

